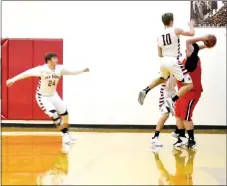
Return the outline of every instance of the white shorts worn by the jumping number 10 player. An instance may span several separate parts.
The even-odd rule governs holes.
[[[184,68],[184,65],[181,64],[181,62],[175,57],[162,57],[160,62],[160,71],[163,79],[167,79],[172,74],[177,81],[184,83],[192,82],[192,79],[187,70]]]

